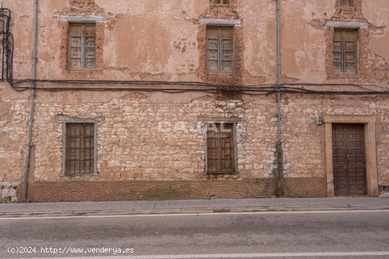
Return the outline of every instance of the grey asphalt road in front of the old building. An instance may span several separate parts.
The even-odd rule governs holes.
[[[86,256],[389,258],[389,212],[0,219],[0,258]]]

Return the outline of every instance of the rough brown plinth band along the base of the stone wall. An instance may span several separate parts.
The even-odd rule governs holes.
[[[35,202],[269,198],[272,179],[192,181],[37,181]],[[286,196],[325,197],[324,178],[286,179]],[[18,188],[21,198],[21,188]]]

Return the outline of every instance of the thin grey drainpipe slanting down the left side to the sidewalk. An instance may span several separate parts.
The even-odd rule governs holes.
[[[36,79],[36,75],[37,75],[37,0],[34,0],[33,83],[31,88],[30,116],[28,118],[27,147],[25,147],[22,203],[25,202],[25,195],[27,192],[27,176],[28,176],[28,169],[30,167],[30,147],[31,147],[31,136],[33,133],[34,103],[35,103],[35,81],[34,80]]]

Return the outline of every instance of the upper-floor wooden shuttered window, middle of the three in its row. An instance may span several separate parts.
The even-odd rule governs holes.
[[[233,72],[233,28],[207,28],[207,72]]]

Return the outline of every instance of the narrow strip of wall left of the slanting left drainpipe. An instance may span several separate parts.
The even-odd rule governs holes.
[[[3,6],[12,12],[14,75],[30,78],[33,1],[6,1]],[[16,187],[23,179],[28,96],[29,92],[16,92],[7,83],[0,83],[0,203],[17,200]]]

